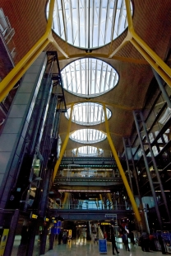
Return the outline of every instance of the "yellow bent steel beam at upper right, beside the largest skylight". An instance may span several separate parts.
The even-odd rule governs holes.
[[[146,59],[146,61],[155,69],[157,73],[164,79],[166,83],[171,87],[171,69],[167,64],[164,63],[158,55],[155,54],[153,50],[146,45],[145,41],[141,39],[140,36],[136,34],[132,23],[132,13],[130,8],[130,0],[125,0],[127,9],[127,22],[128,22],[128,33],[132,35],[130,42],[136,50],[138,50],[141,55]]]

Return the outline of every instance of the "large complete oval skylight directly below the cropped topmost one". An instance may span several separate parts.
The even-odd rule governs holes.
[[[118,73],[100,59],[77,59],[62,69],[63,88],[80,97],[97,97],[112,90]]]

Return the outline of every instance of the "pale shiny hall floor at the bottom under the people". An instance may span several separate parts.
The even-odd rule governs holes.
[[[113,255],[112,254],[112,244],[107,243],[107,254],[108,255]],[[149,254],[155,254],[156,256],[161,255],[162,253],[160,251],[158,252],[142,252],[140,246],[132,246],[130,244],[130,252],[126,251],[123,244],[118,244],[118,251],[119,251],[119,256],[146,256]],[[75,242],[72,241],[71,243],[67,244],[60,244],[58,245],[58,242],[55,241],[53,250],[49,250],[45,256],[97,256],[100,255],[99,253],[99,244],[94,244],[92,242]]]

